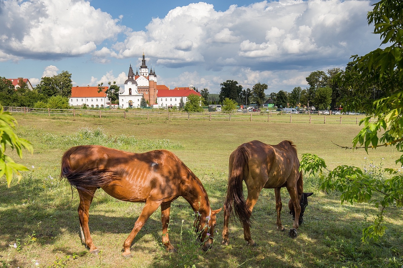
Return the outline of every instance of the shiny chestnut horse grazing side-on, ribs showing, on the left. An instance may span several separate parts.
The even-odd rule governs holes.
[[[169,252],[176,249],[167,233],[172,201],[183,196],[195,212],[201,214],[194,226],[201,232],[202,249],[212,247],[216,214],[206,190],[196,175],[173,153],[154,150],[147,153],[127,153],[98,145],[70,148],[62,157],[60,177],[77,188],[80,196],[78,215],[81,241],[90,253],[98,254],[88,228],[88,210],[97,188],[110,196],[128,202],[145,202],[129,237],[123,243],[123,256],[129,257],[130,246],[151,214],[161,206],[162,243]],[[207,223],[207,224],[206,224]]]

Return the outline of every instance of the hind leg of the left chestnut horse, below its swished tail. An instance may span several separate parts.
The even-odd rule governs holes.
[[[89,192],[78,190],[80,196],[80,204],[77,211],[80,221],[81,241],[84,242],[85,245],[87,245],[87,247],[89,248],[89,252],[92,254],[98,254],[99,252],[98,248],[92,242],[88,227],[89,206],[91,205],[96,190],[96,188],[89,190]]]

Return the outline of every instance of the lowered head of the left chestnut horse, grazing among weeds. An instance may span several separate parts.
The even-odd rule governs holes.
[[[211,210],[207,216],[201,214],[200,218],[195,220],[193,226],[197,226],[195,229],[199,232],[199,241],[203,244],[202,249],[208,251],[213,246],[214,241],[214,227],[216,226],[216,214],[220,212],[222,208],[217,210]],[[197,213],[197,212],[196,212]]]

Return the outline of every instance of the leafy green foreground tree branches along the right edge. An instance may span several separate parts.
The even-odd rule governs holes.
[[[353,56],[345,72],[339,72],[332,81],[351,91],[340,103],[343,110],[365,111],[371,116],[361,120],[364,127],[353,139],[351,148],[393,146],[403,152],[403,6],[401,1],[382,0],[368,12],[368,24],[374,24],[374,33],[380,34],[381,44],[365,56]],[[370,89],[379,91],[380,97],[369,95]],[[369,95],[369,96],[368,96]],[[378,134],[380,137],[378,137]],[[343,146],[343,148],[349,148]],[[403,166],[403,155],[396,159]],[[403,206],[403,175],[396,169],[384,169],[379,179],[359,167],[341,165],[328,170],[326,163],[317,155],[304,154],[301,169],[319,175],[321,189],[342,192],[341,202],[367,202],[378,208],[373,224],[362,230],[362,240],[377,240],[385,233],[383,215],[389,206]]]

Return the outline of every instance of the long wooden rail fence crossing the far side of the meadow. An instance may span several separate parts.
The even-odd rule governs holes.
[[[236,121],[266,121],[266,122],[289,122],[308,124],[358,124],[365,116],[354,115],[318,115],[318,114],[275,114],[272,112],[200,112],[186,113],[181,111],[138,111],[138,110],[92,110],[92,109],[40,109],[28,107],[4,107],[5,111],[12,113],[37,114],[37,115],[66,115],[73,117],[93,116],[99,118],[121,117],[136,119],[159,119],[159,120],[236,120]],[[277,113],[277,112],[276,112]],[[375,120],[371,118],[370,120]]]

